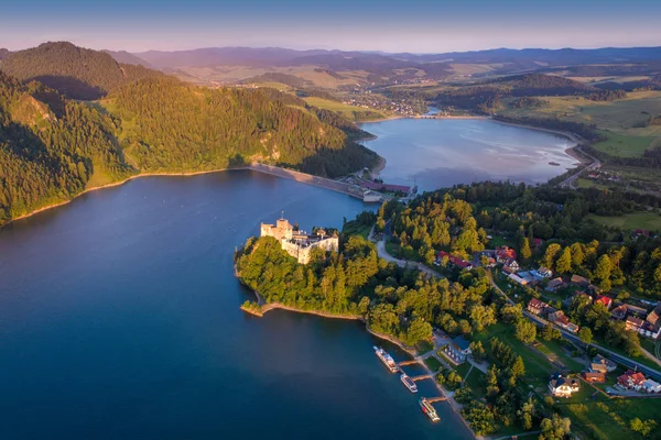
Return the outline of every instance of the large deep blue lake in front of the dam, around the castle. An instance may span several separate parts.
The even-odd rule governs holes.
[[[231,172],[132,180],[0,231],[0,439],[469,438],[446,404],[426,420],[361,324],[239,310],[231,256],[260,221],[362,209]]]

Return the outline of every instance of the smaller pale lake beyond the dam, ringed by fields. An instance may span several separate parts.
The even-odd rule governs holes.
[[[365,145],[386,158],[384,182],[421,191],[488,179],[542,184],[577,162],[565,153],[574,143],[564,136],[486,119],[391,119],[360,128],[378,136]]]

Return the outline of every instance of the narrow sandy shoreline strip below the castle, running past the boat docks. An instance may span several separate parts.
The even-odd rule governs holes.
[[[236,272],[236,266],[235,266],[235,276],[239,279],[239,283],[243,284],[243,282],[241,280],[241,278],[239,277],[238,273]],[[397,345],[400,350],[407,352],[411,358],[413,358],[414,361],[418,361],[418,363],[424,369],[424,371],[427,372],[427,374],[431,375],[431,381],[434,383],[434,386],[436,387],[436,389],[438,391],[438,393],[445,397],[445,403],[447,405],[449,405],[451,409],[457,415],[458,419],[464,424],[464,426],[466,427],[466,429],[468,430],[468,432],[470,432],[470,435],[473,436],[474,439],[481,439],[483,437],[480,436],[476,436],[475,431],[473,430],[473,428],[470,428],[470,425],[468,424],[468,420],[466,420],[460,413],[460,408],[457,407],[457,403],[455,402],[454,397],[449,395],[449,392],[446,391],[441,384],[438,384],[436,382],[436,373],[434,373],[433,371],[430,370],[430,367],[424,363],[424,361],[422,359],[420,359],[420,356],[418,355],[418,353],[415,352],[414,349],[405,345],[403,342],[399,341],[398,339],[388,336],[388,334],[383,334],[383,333],[379,333],[376,332],[373,330],[371,330],[369,328],[369,326],[367,324],[367,321],[365,318],[362,318],[359,315],[338,315],[338,314],[332,314],[332,312],[326,312],[326,311],[317,311],[317,310],[305,310],[305,309],[300,309],[297,307],[293,307],[293,306],[285,306],[283,304],[280,302],[266,302],[264,298],[260,295],[259,292],[254,290],[253,288],[247,286],[246,284],[243,284],[246,287],[248,287],[252,294],[256,296],[257,298],[257,304],[259,305],[260,309],[259,310],[252,310],[252,309],[248,309],[248,308],[243,308],[243,306],[240,307],[241,310],[243,310],[245,312],[252,315],[254,317],[258,318],[262,318],[267,312],[271,311],[271,310],[285,310],[285,311],[291,311],[291,312],[295,312],[295,314],[304,314],[304,315],[312,315],[312,316],[317,316],[321,318],[330,318],[330,319],[345,319],[345,320],[349,320],[349,321],[360,321],[365,324],[365,330],[367,330],[368,333],[370,333],[371,336],[382,339],[384,341],[388,341],[394,345]]]

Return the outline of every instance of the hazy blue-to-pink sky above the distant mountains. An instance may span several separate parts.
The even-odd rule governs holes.
[[[661,1],[3,0],[0,47],[386,52],[661,45]]]

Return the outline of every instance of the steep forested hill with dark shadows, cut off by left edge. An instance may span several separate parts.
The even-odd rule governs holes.
[[[131,169],[110,118],[0,72],[0,226]]]

